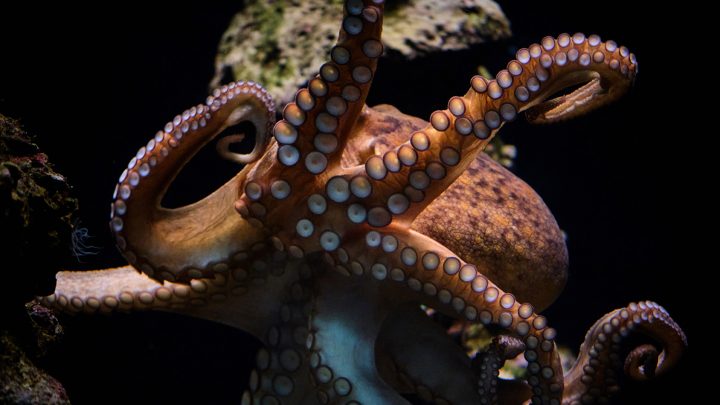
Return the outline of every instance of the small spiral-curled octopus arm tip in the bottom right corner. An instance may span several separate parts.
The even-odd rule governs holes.
[[[628,351],[624,346],[633,335],[644,335],[652,344]],[[619,390],[623,370],[638,380],[663,374],[677,363],[686,346],[682,329],[654,302],[631,303],[612,311],[595,322],[585,336],[577,362],[565,376],[562,403],[606,401]]]

